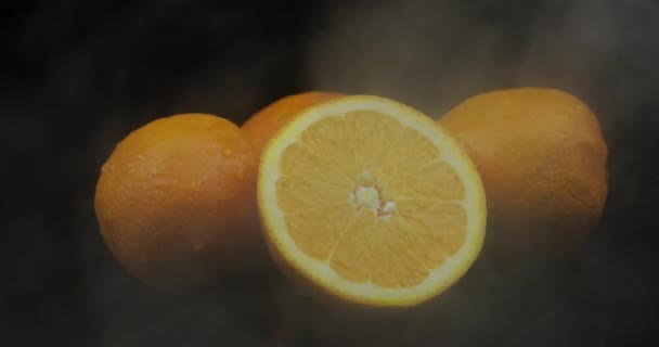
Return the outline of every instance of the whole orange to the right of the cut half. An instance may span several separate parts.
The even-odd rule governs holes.
[[[495,257],[553,255],[585,239],[607,196],[607,146],[592,111],[555,89],[483,93],[439,119],[474,159]]]

